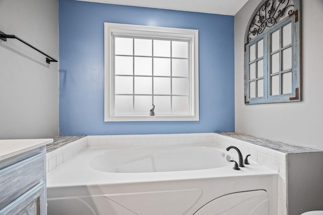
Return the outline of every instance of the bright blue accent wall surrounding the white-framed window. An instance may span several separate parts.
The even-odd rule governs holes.
[[[104,122],[104,22],[199,30],[199,121]],[[60,0],[59,26],[61,134],[234,131],[233,16]]]

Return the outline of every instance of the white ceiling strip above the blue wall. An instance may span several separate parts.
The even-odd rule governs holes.
[[[248,0],[78,0],[113,5],[191,11],[234,16]]]

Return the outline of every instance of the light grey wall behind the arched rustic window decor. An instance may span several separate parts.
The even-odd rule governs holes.
[[[301,1],[303,101],[245,105],[244,34],[260,2],[249,0],[235,16],[235,131],[323,150],[323,1]]]

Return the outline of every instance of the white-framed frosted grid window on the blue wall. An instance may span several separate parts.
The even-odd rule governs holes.
[[[198,121],[197,30],[104,23],[104,37],[105,121]]]

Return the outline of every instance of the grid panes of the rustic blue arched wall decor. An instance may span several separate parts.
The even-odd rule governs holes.
[[[288,38],[291,37],[290,28],[291,23],[288,23],[268,34],[268,40],[271,41],[271,45],[268,47],[270,49],[270,70],[267,71],[269,73],[268,96],[292,93],[292,79],[289,77],[292,74],[292,38]],[[249,98],[264,96],[262,89],[260,89],[263,87],[263,81],[260,80],[263,79],[263,72],[265,71],[263,70],[263,55],[261,54],[263,48],[260,47],[262,45],[263,39],[260,39],[250,44],[248,48]],[[283,76],[285,76],[285,79]]]

